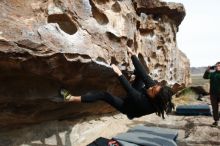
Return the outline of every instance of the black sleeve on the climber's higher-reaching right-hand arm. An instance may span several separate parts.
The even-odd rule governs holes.
[[[154,86],[156,82],[147,74],[146,70],[144,69],[143,65],[141,64],[137,56],[132,55],[131,60],[132,63],[134,64],[136,75],[143,80],[145,87],[149,88],[151,86]]]

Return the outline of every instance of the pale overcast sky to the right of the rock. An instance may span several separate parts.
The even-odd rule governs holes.
[[[163,0],[182,3],[186,16],[179,26],[177,46],[191,67],[220,61],[220,0]]]

